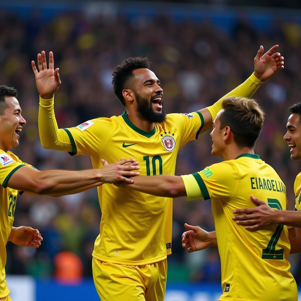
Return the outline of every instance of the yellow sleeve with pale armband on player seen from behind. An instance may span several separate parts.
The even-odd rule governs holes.
[[[184,182],[187,196],[189,198],[196,196],[196,198],[200,198],[200,195],[202,195],[204,200],[208,200],[213,197],[223,200],[231,199],[236,191],[239,180],[237,167],[231,161],[213,164],[200,172],[192,174],[191,176],[189,178],[185,178],[185,181],[189,181],[187,186]],[[200,191],[198,195],[195,182],[197,183]]]

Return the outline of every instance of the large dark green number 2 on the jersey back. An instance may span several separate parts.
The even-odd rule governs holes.
[[[280,202],[276,199],[268,199],[268,205],[271,208],[276,208],[282,210]],[[262,259],[283,259],[283,249],[275,250],[276,244],[280,238],[281,232],[283,230],[283,225],[278,225],[274,234],[272,235],[268,246],[265,249],[262,249]]]

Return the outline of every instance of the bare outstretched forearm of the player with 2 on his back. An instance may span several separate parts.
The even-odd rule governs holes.
[[[137,176],[132,179],[134,183],[124,187],[159,197],[186,196],[182,178],[175,175]]]

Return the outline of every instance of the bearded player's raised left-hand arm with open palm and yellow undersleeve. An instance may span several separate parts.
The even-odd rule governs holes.
[[[39,134],[42,146],[57,151],[73,151],[70,138],[64,129],[59,129],[54,115],[54,93],[61,85],[59,68],[54,70],[52,51],[49,52],[49,68],[47,67],[45,51],[38,54],[38,69],[31,62],[36,78],[36,86],[40,94]]]

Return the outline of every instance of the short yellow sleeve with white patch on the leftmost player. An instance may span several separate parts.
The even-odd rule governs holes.
[[[20,167],[24,166],[20,162],[17,162],[9,153],[0,152],[0,183],[6,188],[6,183],[10,179],[11,175],[18,170]]]

